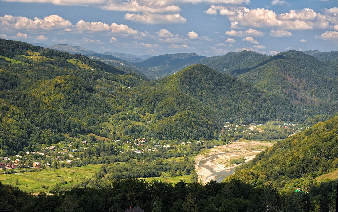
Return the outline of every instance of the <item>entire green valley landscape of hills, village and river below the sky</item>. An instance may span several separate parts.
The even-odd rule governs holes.
[[[148,211],[160,200],[173,211],[189,201],[203,210],[264,201],[332,209],[338,75],[330,61],[298,51],[183,53],[136,69],[112,55],[0,46],[0,189],[29,200],[23,207],[44,211],[36,207],[48,204],[32,206],[42,198],[61,210],[94,195],[103,211],[126,200]],[[225,63],[220,72],[192,64],[199,60]],[[149,80],[150,66],[167,76]]]

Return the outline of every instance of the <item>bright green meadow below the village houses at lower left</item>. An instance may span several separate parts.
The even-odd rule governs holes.
[[[101,165],[87,165],[73,168],[58,168],[54,171],[52,168],[46,168],[42,171],[7,175],[1,174],[0,181],[3,184],[15,185],[15,181],[18,179],[19,185],[15,186],[18,186],[19,189],[32,193],[40,193],[42,191],[48,193],[50,189],[55,187],[56,183],[61,182],[61,178],[64,178],[64,180],[67,181],[67,184],[65,185],[75,185],[80,183],[82,181],[81,179],[93,176],[96,171],[100,170],[100,167]],[[73,180],[73,182],[70,182],[71,180]],[[60,187],[65,185],[60,185]],[[42,188],[41,186],[46,186],[48,188]]]

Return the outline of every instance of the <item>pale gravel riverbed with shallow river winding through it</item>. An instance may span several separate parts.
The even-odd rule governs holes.
[[[221,182],[232,174],[235,167],[239,165],[231,165],[230,162],[233,159],[244,158],[247,162],[273,144],[273,142],[261,141],[233,142],[197,155],[195,157],[195,169],[199,181],[202,183],[208,183],[211,180]]]

